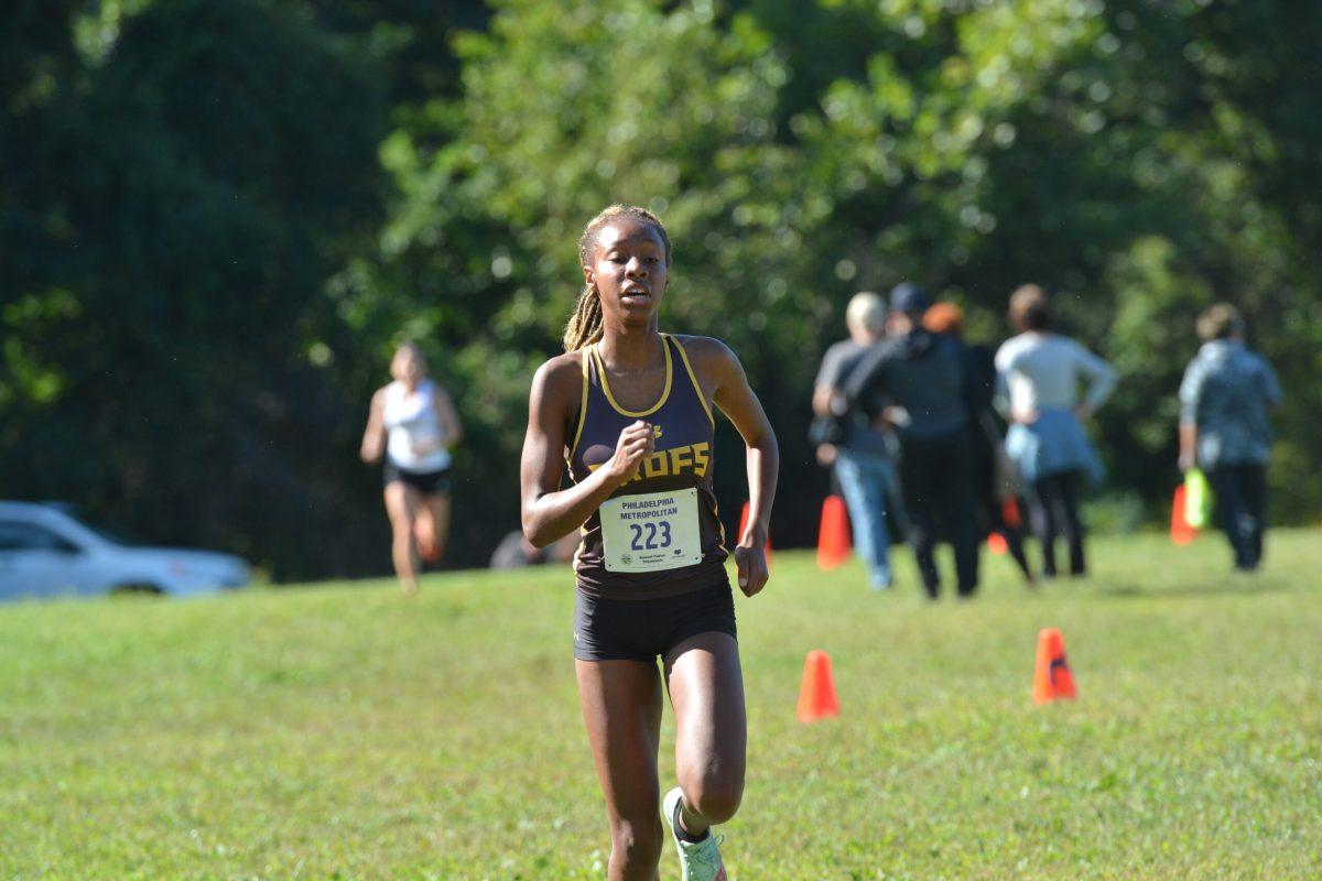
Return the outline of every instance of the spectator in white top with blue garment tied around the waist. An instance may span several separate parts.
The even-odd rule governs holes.
[[[995,354],[998,396],[1007,409],[1006,453],[1029,487],[1029,519],[1042,544],[1042,571],[1056,575],[1055,539],[1069,546],[1069,573],[1087,573],[1084,532],[1079,519],[1083,479],[1100,481],[1104,470],[1083,431],[1110,396],[1116,371],[1081,345],[1052,332],[1047,295],[1026,284],[1010,296],[1010,324],[1019,332]],[[1088,392],[1079,403],[1080,382]]]

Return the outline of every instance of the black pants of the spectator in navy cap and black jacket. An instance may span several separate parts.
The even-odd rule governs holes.
[[[954,548],[960,596],[978,588],[978,534],[973,522],[973,452],[960,431],[940,437],[902,440],[900,487],[908,510],[908,542],[923,586],[936,597],[941,579],[933,551],[939,535]]]

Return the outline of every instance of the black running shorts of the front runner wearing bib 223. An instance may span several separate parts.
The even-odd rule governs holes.
[[[728,581],[657,600],[607,600],[575,590],[574,656],[654,663],[699,633],[735,630]]]

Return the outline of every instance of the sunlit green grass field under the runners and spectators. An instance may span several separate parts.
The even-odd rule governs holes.
[[[888,594],[777,553],[738,604],[731,877],[1322,877],[1322,531],[1273,534],[1256,577],[1227,556],[1097,539],[1085,582],[1030,594],[998,557],[929,605],[903,551]],[[0,877],[604,877],[570,584],[0,606]],[[1076,701],[1030,701],[1043,626]],[[800,725],[810,649],[842,715]]]

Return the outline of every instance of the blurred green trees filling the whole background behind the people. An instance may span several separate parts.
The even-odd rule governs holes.
[[[278,579],[389,569],[370,391],[416,339],[469,428],[452,563],[517,527],[583,223],[676,242],[665,325],[731,343],[808,543],[821,351],[858,289],[1007,334],[1036,281],[1110,358],[1105,495],[1155,516],[1215,300],[1322,499],[1322,7],[1309,0],[19,0],[0,11],[0,486]],[[743,499],[728,428],[723,510]]]

